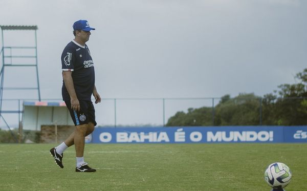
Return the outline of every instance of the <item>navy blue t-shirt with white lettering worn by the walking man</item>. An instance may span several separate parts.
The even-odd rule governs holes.
[[[79,100],[91,100],[95,86],[94,62],[87,45],[79,45],[71,41],[63,50],[62,71],[72,71],[74,88]],[[63,100],[70,100],[69,93],[63,80]]]

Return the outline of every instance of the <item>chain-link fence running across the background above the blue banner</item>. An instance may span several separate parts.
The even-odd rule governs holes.
[[[3,100],[1,129],[18,128],[23,102]],[[110,98],[95,109],[99,126],[304,125],[307,98]],[[170,123],[175,118],[192,121]]]

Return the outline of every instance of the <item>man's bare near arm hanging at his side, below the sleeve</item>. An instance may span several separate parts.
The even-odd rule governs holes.
[[[62,71],[63,80],[65,83],[65,87],[69,93],[71,98],[71,108],[74,111],[80,111],[80,103],[76,95],[76,91],[74,88],[74,81],[72,78],[72,71]]]

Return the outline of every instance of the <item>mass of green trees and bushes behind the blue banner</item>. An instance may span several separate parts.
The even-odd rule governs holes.
[[[295,76],[298,83],[281,84],[263,98],[225,95],[214,108],[190,108],[177,112],[166,126],[207,125],[305,125],[307,124],[307,68]],[[214,118],[214,124],[213,124]]]

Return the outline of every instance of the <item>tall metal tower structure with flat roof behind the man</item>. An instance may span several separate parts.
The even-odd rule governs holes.
[[[39,80],[38,80],[38,68],[37,68],[37,37],[36,37],[36,30],[38,29],[37,26],[0,26],[1,28],[1,32],[2,32],[2,49],[0,52],[0,55],[2,54],[2,68],[0,71],[0,119],[2,118],[4,120],[4,122],[7,124],[7,122],[5,121],[4,117],[2,114],[4,113],[18,113],[20,115],[20,112],[22,113],[22,111],[20,111],[18,109],[18,111],[3,111],[2,109],[2,104],[3,104],[3,92],[5,90],[33,90],[33,91],[37,91],[37,95],[38,95],[38,100],[40,101],[40,89],[39,89]],[[34,46],[5,46],[5,39],[4,39],[4,32],[6,31],[24,31],[24,30],[28,30],[28,31],[33,31],[34,32]],[[23,34],[21,34],[23,35]],[[33,52],[32,55],[23,55],[21,53],[18,54],[14,54],[14,52],[19,52],[22,50],[30,50],[30,52]],[[27,58],[29,59],[33,59],[34,61],[32,61],[33,63],[27,63],[25,62],[25,60],[27,60]],[[14,59],[18,59],[19,62],[15,63]],[[24,60],[23,60],[24,59]],[[21,60],[21,61],[20,61]],[[21,63],[20,63],[21,62]],[[35,87],[7,87],[5,86],[5,71],[6,68],[8,67],[34,67],[36,69],[36,79],[37,79],[37,84]],[[33,73],[24,73],[23,75],[31,75],[33,76]],[[18,78],[18,76],[17,76]],[[19,95],[19,94],[18,94]],[[24,94],[21,94],[21,96],[23,96]],[[21,99],[23,99],[23,97],[21,97]],[[7,124],[9,130],[11,131],[9,125]]]

